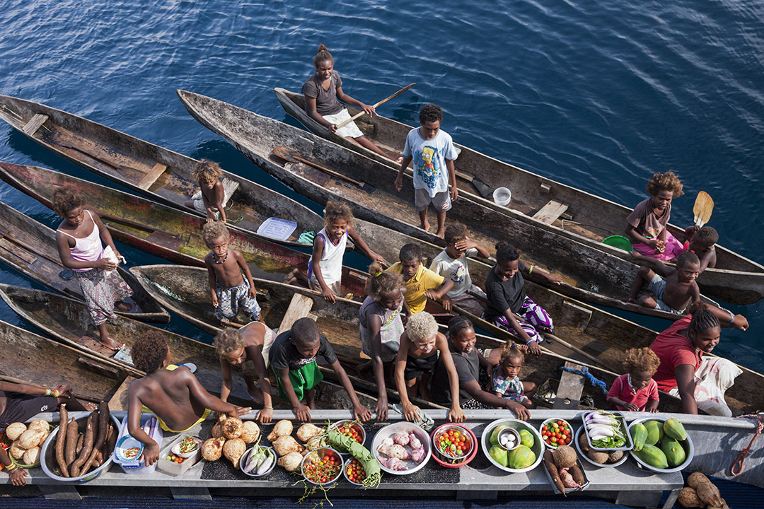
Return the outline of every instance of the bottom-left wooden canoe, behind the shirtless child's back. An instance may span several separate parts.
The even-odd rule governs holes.
[[[0,344],[0,379],[5,382],[45,388],[66,384],[76,395],[108,401],[129,376],[126,369],[99,356],[4,321],[0,321]]]

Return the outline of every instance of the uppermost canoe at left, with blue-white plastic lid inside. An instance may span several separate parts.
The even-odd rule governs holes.
[[[193,179],[196,159],[66,111],[8,95],[0,95],[0,118],[85,169],[163,205],[202,216],[183,205],[199,189]],[[293,234],[277,241],[290,246],[305,246],[297,242],[299,234],[323,227],[319,214],[293,199],[231,172],[224,171],[223,176],[238,184],[229,200],[231,208],[226,209],[229,227],[259,236],[257,228],[269,217],[294,221],[297,227]]]

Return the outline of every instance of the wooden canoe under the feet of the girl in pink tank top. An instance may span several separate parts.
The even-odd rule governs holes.
[[[0,284],[0,295],[24,320],[45,333],[76,349],[85,350],[106,362],[125,369],[132,376],[141,377],[143,372],[130,363],[114,358],[114,352],[100,346],[98,332],[85,304],[50,292]],[[180,336],[168,330],[158,329],[139,321],[115,317],[107,322],[109,335],[118,343],[132,346],[139,337],[149,331],[160,333],[170,347],[171,362],[193,362],[197,366],[196,378],[212,393],[220,393],[220,361],[212,346]],[[241,401],[250,398],[244,391],[244,382],[235,381],[235,394]]]

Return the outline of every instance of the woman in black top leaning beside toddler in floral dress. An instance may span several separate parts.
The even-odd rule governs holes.
[[[459,377],[459,401],[461,408],[471,410],[490,410],[491,408],[507,408],[514,412],[520,420],[528,420],[530,414],[522,404],[511,399],[500,398],[481,388],[478,382],[480,370],[485,369],[488,378],[492,370],[483,354],[475,348],[475,337],[472,322],[466,317],[453,317],[448,322],[448,348],[451,353],[456,373]],[[450,386],[448,385],[448,370],[445,359],[441,357],[435,362],[432,372],[430,392],[432,401],[442,405],[452,403]]]

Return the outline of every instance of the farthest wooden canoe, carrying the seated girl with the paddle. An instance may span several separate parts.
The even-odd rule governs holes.
[[[327,140],[342,145],[393,169],[398,169],[390,159],[382,157],[344,137],[330,133],[306,114],[302,94],[286,89],[274,89],[276,96],[287,114]],[[351,115],[358,108],[348,106]],[[356,121],[364,135],[377,146],[395,156],[400,156],[406,143],[406,134],[411,126],[390,120],[380,115],[367,115]],[[455,161],[457,185],[460,193],[468,193],[469,198],[487,208],[500,211],[536,227],[553,231],[571,240],[585,243],[604,253],[630,261],[629,254],[602,243],[609,235],[623,235],[626,217],[633,210],[614,201],[601,198],[591,192],[547,179],[536,173],[518,168],[499,159],[471,150],[455,143],[461,150]],[[410,170],[409,170],[410,171]],[[483,182],[490,190],[507,187],[512,191],[512,201],[508,207],[497,205],[484,198],[472,182]],[[552,224],[533,217],[547,203],[556,201],[568,208]],[[636,205],[636,204],[635,204]],[[669,224],[669,231],[678,239],[685,240],[684,229]],[[717,267],[706,269],[698,278],[701,291],[712,298],[730,304],[753,304],[764,298],[764,266],[717,244]]]

